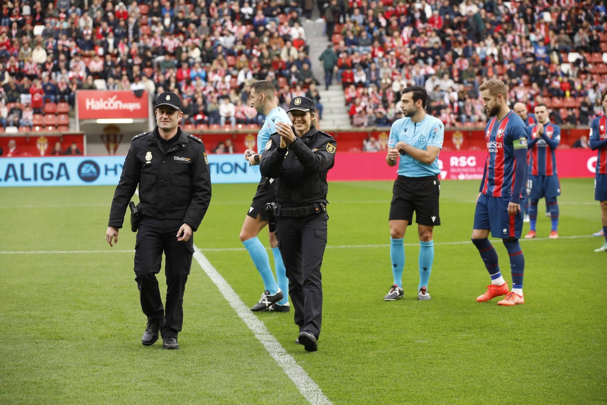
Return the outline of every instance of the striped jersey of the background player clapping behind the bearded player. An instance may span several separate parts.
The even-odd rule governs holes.
[[[546,137],[554,140],[556,146],[561,142],[561,128],[553,123],[544,124],[544,134]],[[529,137],[529,147],[531,151],[529,156],[531,159],[529,164],[531,165],[532,176],[553,176],[557,174],[557,158],[554,154],[556,146],[553,148],[548,145],[548,142],[537,134],[537,124],[527,128],[527,136]],[[537,139],[532,142],[534,139]]]

